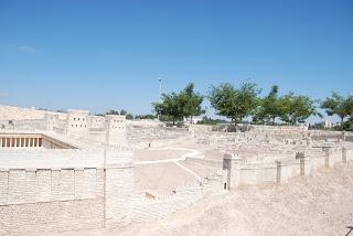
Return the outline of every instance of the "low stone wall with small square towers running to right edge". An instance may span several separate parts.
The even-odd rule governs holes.
[[[224,168],[223,175],[234,178],[229,180],[223,176],[223,185],[231,184],[229,189],[239,184],[260,184],[265,182],[287,182],[289,179],[310,174],[321,168],[332,168],[339,162],[353,161],[353,148],[350,147],[323,147],[321,150],[309,150],[301,157],[292,159],[279,159],[269,163],[242,163],[242,159],[234,159],[233,164]],[[233,172],[233,174],[231,174]],[[239,172],[234,174],[234,172]],[[229,183],[231,182],[231,183]],[[232,184],[236,183],[236,184]]]

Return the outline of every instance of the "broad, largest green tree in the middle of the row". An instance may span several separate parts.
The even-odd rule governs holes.
[[[212,86],[208,99],[217,115],[231,118],[236,125],[244,118],[254,115],[259,93],[260,90],[254,83],[243,83],[239,88],[226,83],[218,87]]]

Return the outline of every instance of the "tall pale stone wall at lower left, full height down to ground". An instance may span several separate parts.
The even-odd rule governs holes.
[[[0,170],[0,235],[103,226],[101,169]]]

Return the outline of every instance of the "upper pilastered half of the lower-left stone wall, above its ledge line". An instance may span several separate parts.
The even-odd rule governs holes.
[[[97,169],[0,170],[0,205],[96,199]]]

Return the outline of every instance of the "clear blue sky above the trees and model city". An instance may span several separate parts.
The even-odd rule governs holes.
[[[159,77],[352,94],[353,1],[0,0],[0,104],[148,114]]]

